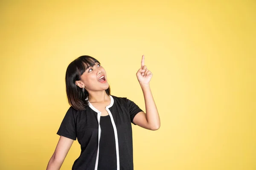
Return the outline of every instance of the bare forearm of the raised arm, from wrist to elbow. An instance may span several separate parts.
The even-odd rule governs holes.
[[[150,85],[140,84],[140,86],[142,88],[145,100],[146,119],[148,125],[151,127],[152,130],[157,130],[160,128],[160,117],[157,111],[157,106],[154,102]]]

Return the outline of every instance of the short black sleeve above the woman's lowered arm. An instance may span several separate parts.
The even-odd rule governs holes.
[[[62,120],[57,134],[76,140],[76,123],[73,112],[74,110],[71,106]]]

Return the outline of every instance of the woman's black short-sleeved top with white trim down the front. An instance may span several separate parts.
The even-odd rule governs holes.
[[[71,106],[64,116],[57,134],[73,140],[77,138],[81,145],[80,156],[74,162],[72,170],[98,170],[108,165],[108,168],[115,166],[115,170],[133,170],[131,123],[134,116],[142,110],[125,97],[110,98],[111,104],[106,107],[109,115],[106,117],[101,116],[91,104],[84,111],[76,111]],[[108,128],[104,128],[105,126]],[[112,143],[109,148],[105,145],[108,142]],[[108,152],[113,162],[106,161]]]

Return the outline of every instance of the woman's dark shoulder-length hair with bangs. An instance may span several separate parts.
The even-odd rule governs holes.
[[[88,92],[76,85],[76,81],[81,80],[81,75],[90,66],[93,67],[95,62],[99,62],[97,59],[90,56],[80,56],[71,62],[66,71],[66,92],[68,103],[78,111],[86,110],[88,103]],[[100,62],[99,62],[100,64]],[[105,90],[110,95],[110,87]],[[86,100],[87,99],[87,100]]]

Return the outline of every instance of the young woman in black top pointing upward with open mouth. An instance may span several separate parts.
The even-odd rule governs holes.
[[[81,56],[67,67],[66,92],[71,105],[58,129],[60,139],[47,170],[59,170],[73,141],[81,154],[72,170],[133,170],[131,123],[148,130],[160,127],[160,117],[149,82],[152,73],[144,65],[137,71],[146,113],[134,102],[110,94],[105,69],[90,56]]]

